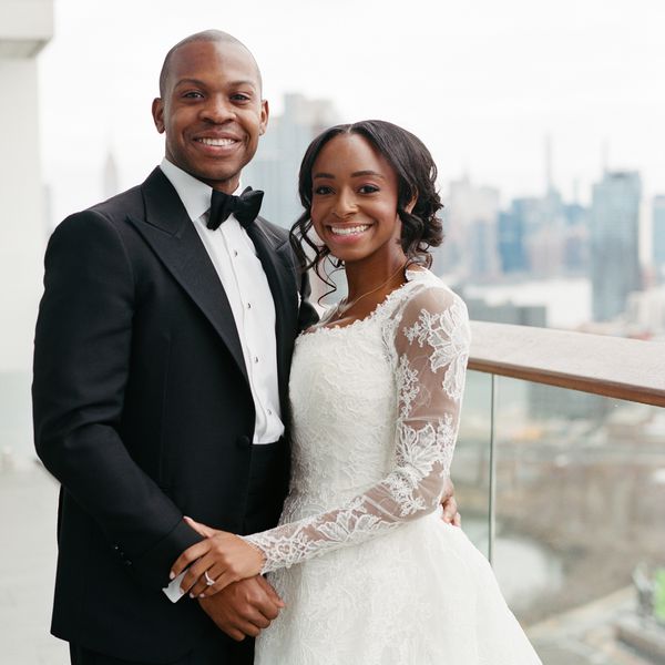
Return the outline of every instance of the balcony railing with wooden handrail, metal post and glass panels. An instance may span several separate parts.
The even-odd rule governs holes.
[[[545,664],[665,662],[645,601],[665,567],[665,344],[472,332],[452,468],[468,533]]]

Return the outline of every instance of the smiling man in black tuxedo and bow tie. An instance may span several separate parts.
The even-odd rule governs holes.
[[[62,484],[52,632],[74,665],[250,663],[243,637],[283,605],[264,579],[208,601],[162,590],[201,539],[184,515],[276,523],[293,345],[316,315],[287,233],[253,218],[256,197],[224,196],[268,122],[249,51],[218,31],[176,44],[153,117],[161,166],[47,250],[33,405]]]

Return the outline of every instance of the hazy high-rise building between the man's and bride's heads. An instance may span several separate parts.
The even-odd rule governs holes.
[[[243,170],[243,185],[264,190],[262,215],[290,228],[303,208],[298,198],[298,170],[305,150],[326,127],[338,122],[327,100],[308,100],[301,94],[284,96],[284,112],[270,117],[256,156]]]

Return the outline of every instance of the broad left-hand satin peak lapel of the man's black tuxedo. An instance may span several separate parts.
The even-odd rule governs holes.
[[[145,219],[130,222],[211,321],[239,370],[247,368],[224,287],[178,195],[155,168],[143,183]]]

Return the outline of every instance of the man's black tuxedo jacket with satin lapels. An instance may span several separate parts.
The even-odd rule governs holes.
[[[276,308],[283,417],[294,340],[314,320],[287,232],[254,243]],[[300,297],[303,296],[303,305]],[[209,627],[161,589],[200,540],[182,520],[246,533],[277,521],[288,463],[247,524],[255,410],[233,315],[160,168],[68,217],[45,255],[35,335],[37,451],[61,481],[52,632],[125,659],[170,662]]]

